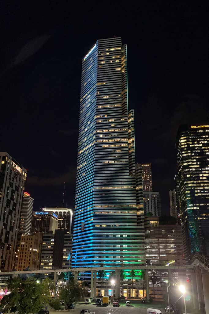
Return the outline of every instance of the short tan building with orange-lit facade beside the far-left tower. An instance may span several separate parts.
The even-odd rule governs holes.
[[[42,233],[20,236],[20,246],[17,252],[17,270],[29,268],[37,270],[40,267]]]

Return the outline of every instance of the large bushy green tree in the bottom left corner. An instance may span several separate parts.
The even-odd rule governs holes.
[[[29,314],[39,312],[48,304],[52,285],[48,278],[38,284],[34,278],[23,280],[15,277],[8,281],[8,288],[11,293],[1,300],[0,311]]]

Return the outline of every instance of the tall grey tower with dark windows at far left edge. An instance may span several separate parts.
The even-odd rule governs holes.
[[[12,270],[27,170],[0,153],[0,269]]]

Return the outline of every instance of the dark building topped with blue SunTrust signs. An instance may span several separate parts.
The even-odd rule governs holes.
[[[48,233],[58,229],[58,216],[54,213],[50,214],[48,212],[33,212],[31,232],[42,232]]]

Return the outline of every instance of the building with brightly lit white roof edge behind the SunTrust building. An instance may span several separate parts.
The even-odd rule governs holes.
[[[71,233],[73,212],[71,208],[63,207],[46,207],[42,208],[43,211],[54,213],[58,216],[58,229],[66,230]]]

